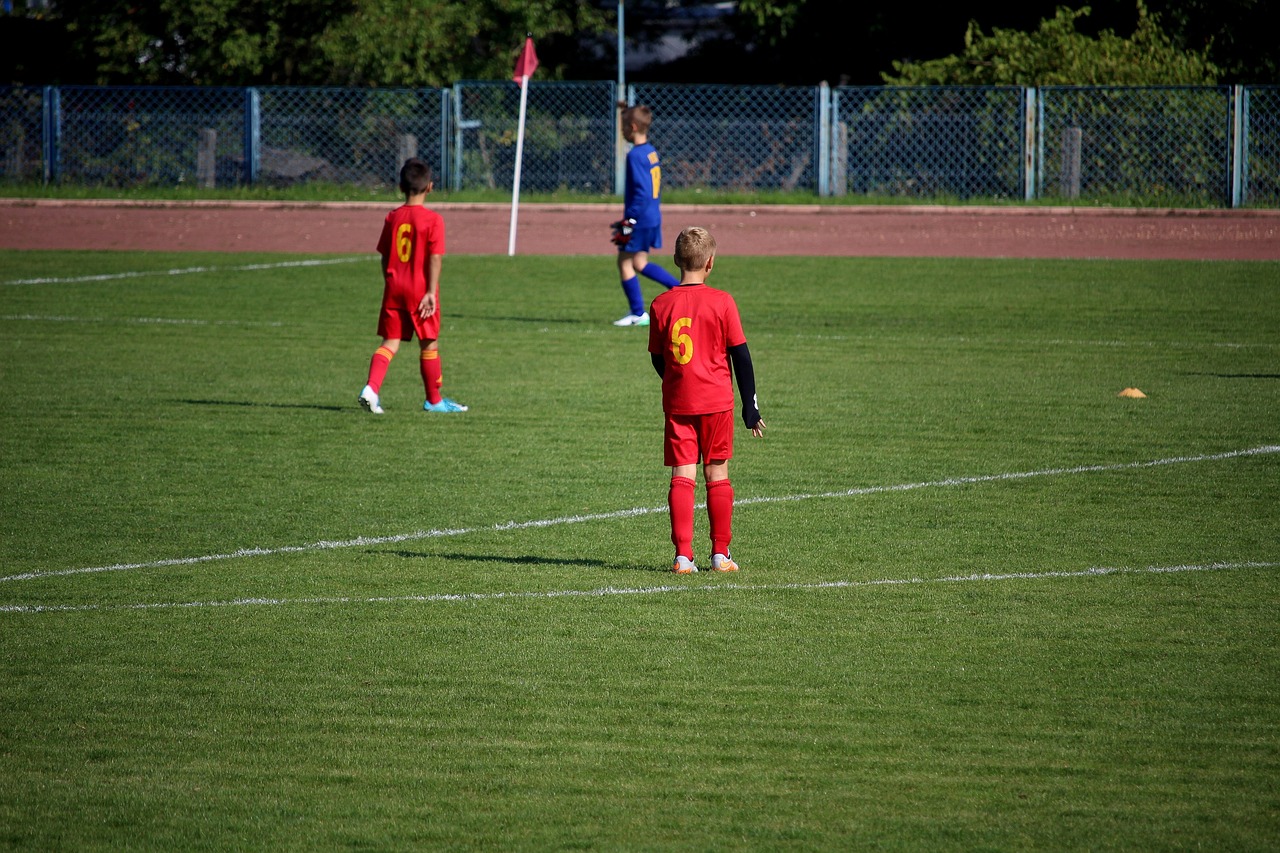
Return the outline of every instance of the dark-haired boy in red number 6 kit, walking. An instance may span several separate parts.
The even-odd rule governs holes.
[[[401,168],[404,204],[387,214],[378,238],[383,256],[383,309],[378,315],[378,334],[383,343],[369,364],[369,384],[360,392],[365,411],[383,414],[378,401],[387,368],[399,351],[401,341],[417,334],[422,357],[419,361],[426,402],[422,409],[435,412],[466,411],[440,396],[440,266],[444,259],[444,219],[425,206],[431,192],[431,167],[413,158]]]

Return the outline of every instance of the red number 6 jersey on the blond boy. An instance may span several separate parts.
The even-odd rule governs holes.
[[[663,357],[662,410],[707,415],[733,409],[728,348],[746,343],[737,302],[707,284],[681,284],[649,307],[649,352]]]

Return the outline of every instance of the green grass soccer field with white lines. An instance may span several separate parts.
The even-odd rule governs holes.
[[[608,257],[303,260],[0,252],[0,847],[1280,847],[1280,265],[721,259],[677,578]]]

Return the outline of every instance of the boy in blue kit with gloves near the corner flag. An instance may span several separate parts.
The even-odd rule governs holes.
[[[649,143],[652,123],[653,111],[643,104],[622,111],[622,136],[631,150],[627,152],[622,219],[613,225],[613,242],[618,245],[618,277],[627,297],[627,315],[613,325],[649,325],[640,275],[668,289],[680,284],[662,266],[649,263],[649,251],[662,248],[662,160]]]

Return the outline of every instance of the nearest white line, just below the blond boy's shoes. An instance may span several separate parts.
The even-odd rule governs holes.
[[[660,587],[600,587],[596,589],[553,589],[544,592],[438,593],[434,596],[317,596],[308,598],[229,598],[223,601],[154,602],[136,605],[0,605],[0,613],[118,612],[137,610],[184,610],[202,607],[283,607],[288,605],[408,605],[484,601],[522,601],[539,598],[600,598],[607,596],[660,596],[666,593],[794,592],[823,589],[861,589],[910,584],[995,583],[1001,580],[1055,580],[1097,578],[1101,575],[1180,574],[1189,571],[1229,571],[1234,569],[1275,569],[1280,562],[1210,562],[1144,569],[1094,566],[1083,571],[1015,571],[1002,574],[956,575],[951,578],[883,578],[879,580],[827,580],[808,584],[716,584]]]

